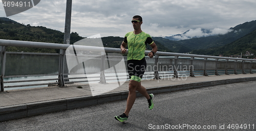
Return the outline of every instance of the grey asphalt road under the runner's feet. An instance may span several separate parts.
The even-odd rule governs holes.
[[[154,103],[148,110],[138,97],[127,123],[114,119],[122,100],[1,122],[0,130],[256,130],[256,82],[155,94]]]

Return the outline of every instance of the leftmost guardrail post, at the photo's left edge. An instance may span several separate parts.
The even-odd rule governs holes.
[[[6,64],[6,47],[2,46],[1,47],[1,78],[0,78],[1,92],[5,91],[5,88],[4,88],[5,64]]]

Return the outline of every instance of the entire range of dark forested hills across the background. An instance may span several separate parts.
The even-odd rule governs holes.
[[[254,40],[256,30],[256,20],[239,24],[230,28],[230,32],[224,35],[208,36],[202,38],[192,38],[187,40],[169,40],[162,37],[152,37],[158,46],[159,51],[175,53],[191,53],[200,55],[239,55],[256,54],[254,50]],[[205,33],[209,33],[204,30]],[[0,17],[0,39],[37,41],[49,43],[63,43],[64,33],[46,27],[33,27],[30,24],[21,24],[9,18]],[[84,39],[78,33],[71,33],[71,44]],[[103,37],[101,38],[104,47],[120,48],[123,41],[122,37]],[[238,41],[237,41],[238,40]],[[247,42],[247,43],[246,43]],[[224,46],[225,45],[225,46]],[[149,45],[146,47],[151,49]],[[193,51],[192,51],[193,50]],[[47,52],[58,53],[58,49],[39,49],[7,47],[7,51],[27,51],[27,52]],[[247,53],[246,53],[247,52]],[[252,58],[253,56],[250,56]]]

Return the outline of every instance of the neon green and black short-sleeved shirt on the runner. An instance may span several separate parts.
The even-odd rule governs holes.
[[[153,39],[144,32],[135,35],[132,31],[124,36],[123,42],[128,45],[127,60],[141,60],[145,57],[146,44],[151,45]]]

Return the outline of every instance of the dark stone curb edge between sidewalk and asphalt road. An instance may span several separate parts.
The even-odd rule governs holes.
[[[256,80],[256,77],[233,78],[233,79],[217,80],[217,81],[151,87],[151,88],[146,88],[146,90],[148,94],[151,94],[151,93],[158,94],[158,93],[173,92],[173,91],[179,91],[179,90],[217,86],[217,85],[223,85],[223,84],[249,82],[249,81],[255,81],[255,80]],[[123,99],[127,99],[128,93],[129,91],[121,91],[121,92],[105,93],[97,96],[79,96],[79,97],[62,98],[62,99],[31,102],[31,103],[0,107],[0,122],[12,120],[12,119],[20,119],[20,118],[25,118],[25,117],[35,116],[35,115],[41,115],[46,113],[84,108],[84,107],[89,107],[96,104],[113,102],[117,100],[123,100]],[[137,92],[136,96],[140,97],[142,95]]]

